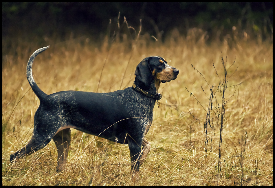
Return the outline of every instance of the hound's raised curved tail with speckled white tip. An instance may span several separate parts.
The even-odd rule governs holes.
[[[27,64],[27,78],[28,81],[32,87],[33,92],[36,94],[36,96],[39,98],[39,100],[41,101],[41,99],[43,99],[45,96],[47,96],[47,94],[45,94],[41,89],[39,89],[38,85],[35,83],[33,77],[32,77],[32,64],[34,61],[34,58],[36,57],[36,55],[38,55],[40,52],[45,51],[47,48],[49,48],[50,46],[41,48],[36,50],[30,57],[28,64]]]

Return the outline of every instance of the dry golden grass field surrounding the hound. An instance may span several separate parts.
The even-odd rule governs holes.
[[[3,185],[131,185],[127,145],[94,139],[74,129],[66,172],[55,173],[57,152],[53,142],[17,163],[9,163],[10,154],[30,139],[39,106],[38,98],[29,90],[26,63],[32,52],[46,45],[51,47],[36,57],[33,74],[47,94],[63,90],[111,92],[130,87],[135,67],[150,55],[164,57],[180,70],[176,80],[160,86],[162,106],[154,109],[153,124],[146,135],[151,151],[141,166],[137,185],[273,184],[272,42],[247,42],[244,38],[230,44],[227,39],[206,45],[205,36],[198,29],[190,29],[186,38],[175,30],[164,44],[149,42],[147,38],[141,36],[133,52],[128,49],[128,40],[114,42],[109,50],[107,41],[98,49],[86,38],[71,38],[58,44],[49,39],[45,45],[19,43],[18,56],[3,55]],[[220,118],[213,120],[212,129],[208,126],[205,158],[203,108],[208,108],[210,90],[197,70],[210,86],[218,86],[220,80],[212,63],[222,76],[221,55],[225,58],[225,54],[227,67],[236,59],[228,77],[238,69],[228,79],[225,92],[228,101],[218,178]],[[212,118],[221,103],[217,92]]]

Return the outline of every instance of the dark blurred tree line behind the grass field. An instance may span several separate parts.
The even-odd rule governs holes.
[[[207,31],[209,39],[225,36],[232,28],[271,39],[273,3],[2,3],[2,37],[58,36],[74,32],[102,39],[124,16],[137,32],[168,36],[177,28],[186,35],[193,27]],[[109,21],[111,19],[111,25]],[[111,28],[109,28],[111,27]],[[234,29],[233,29],[234,30]]]

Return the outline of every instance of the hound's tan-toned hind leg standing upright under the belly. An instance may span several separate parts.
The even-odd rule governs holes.
[[[71,144],[71,129],[63,129],[52,138],[57,148],[56,171],[61,172],[66,169],[69,146]]]

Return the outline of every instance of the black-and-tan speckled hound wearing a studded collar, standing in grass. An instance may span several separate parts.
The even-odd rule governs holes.
[[[175,80],[179,70],[162,57],[143,59],[135,70],[132,87],[110,93],[61,91],[47,95],[32,77],[34,58],[47,47],[36,50],[27,65],[27,78],[40,100],[34,116],[34,131],[26,146],[10,155],[14,160],[44,148],[51,139],[57,148],[57,172],[65,170],[71,130],[74,128],[120,144],[128,144],[133,177],[138,177],[140,165],[150,151],[144,138],[153,121],[153,108],[160,83]]]

